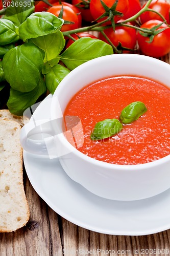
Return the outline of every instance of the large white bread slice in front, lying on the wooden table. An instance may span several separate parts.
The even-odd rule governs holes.
[[[0,232],[26,225],[30,212],[23,188],[21,126],[0,119]]]

